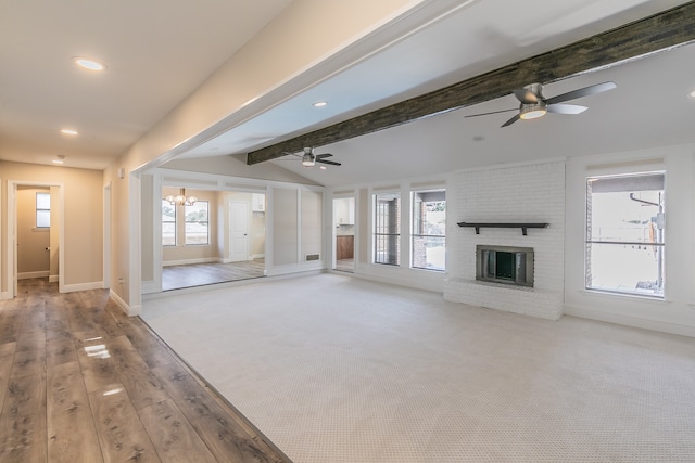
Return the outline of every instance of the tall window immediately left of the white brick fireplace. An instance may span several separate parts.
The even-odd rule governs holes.
[[[445,269],[446,191],[413,192],[413,249],[416,269]]]

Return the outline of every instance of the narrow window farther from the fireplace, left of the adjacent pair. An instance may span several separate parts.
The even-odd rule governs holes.
[[[401,265],[401,195],[374,195],[374,261]]]

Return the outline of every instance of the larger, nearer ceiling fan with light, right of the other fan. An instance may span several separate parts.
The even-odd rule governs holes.
[[[580,106],[577,104],[561,104],[565,101],[574,100],[582,97],[587,97],[594,93],[605,92],[616,88],[615,82],[603,82],[594,86],[583,87],[581,89],[572,90],[567,93],[558,94],[553,98],[546,99],[543,97],[543,86],[541,83],[531,83],[522,89],[514,90],[514,95],[519,100],[519,113],[513,118],[502,125],[502,127],[510,126],[519,119],[535,119],[545,116],[546,113],[556,114],[579,114],[587,110],[586,106]],[[506,113],[513,110],[493,111],[490,113],[471,114],[466,117],[486,116],[489,114]]]

